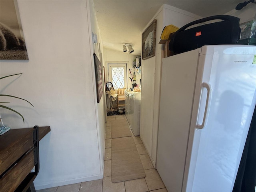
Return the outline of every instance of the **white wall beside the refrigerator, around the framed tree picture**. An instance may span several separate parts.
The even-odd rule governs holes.
[[[199,19],[200,16],[164,4],[158,13],[145,26],[144,30],[156,19],[156,55],[142,60],[141,124],[140,137],[151,158],[156,164],[160,87],[162,70],[162,44],[158,44],[164,26],[173,24],[182,27]],[[143,30],[143,31],[144,31]]]

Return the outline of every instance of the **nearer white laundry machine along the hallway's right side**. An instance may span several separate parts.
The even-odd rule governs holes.
[[[140,135],[140,93],[133,92],[129,96],[129,122],[135,136]]]

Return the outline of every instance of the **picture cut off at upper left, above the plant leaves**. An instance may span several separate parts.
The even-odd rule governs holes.
[[[0,60],[28,60],[17,0],[0,0]]]

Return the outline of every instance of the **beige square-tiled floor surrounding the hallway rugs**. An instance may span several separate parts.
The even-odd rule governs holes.
[[[154,169],[148,153],[139,136],[134,139],[146,177],[112,183],[111,181],[111,120],[126,119],[125,115],[108,116],[106,123],[104,178],[94,181],[70,184],[37,190],[37,192],[167,192],[162,179]],[[132,132],[132,131],[131,131]]]

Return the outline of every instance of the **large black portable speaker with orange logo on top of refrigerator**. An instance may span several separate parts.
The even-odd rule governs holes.
[[[186,28],[210,20],[223,20]],[[240,39],[240,18],[230,15],[216,15],[186,24],[174,33],[169,43],[169,50],[178,54],[194,50],[204,45],[236,44]]]

